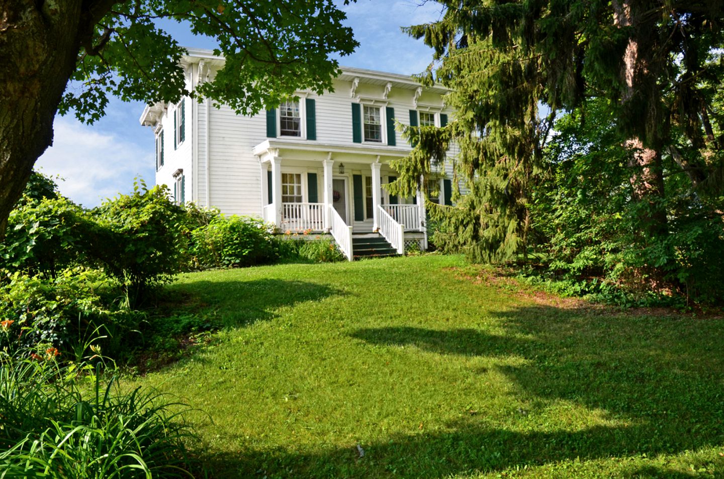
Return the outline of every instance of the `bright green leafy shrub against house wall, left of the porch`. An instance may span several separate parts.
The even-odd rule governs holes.
[[[190,255],[197,268],[253,266],[277,258],[269,226],[248,216],[216,216],[194,229]]]

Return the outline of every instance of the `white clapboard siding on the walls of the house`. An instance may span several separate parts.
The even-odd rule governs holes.
[[[353,142],[352,103],[355,100],[350,97],[351,85],[352,83],[347,80],[334,80],[334,93],[326,93],[322,96],[315,93],[306,95],[306,98],[315,101],[316,140],[300,140],[301,142],[310,145],[324,143],[348,147],[360,145]],[[362,79],[356,94],[363,98],[382,98],[384,83],[371,84]],[[409,124],[409,111],[415,109],[414,96],[414,88],[393,85],[392,90],[387,94],[387,104],[379,103],[379,107],[382,109],[383,136],[387,135],[387,123],[384,118],[385,107],[392,107],[395,110],[395,118],[400,123]],[[261,111],[254,116],[240,116],[227,106],[217,109],[210,105],[207,117],[205,103],[196,103],[190,98],[186,98],[185,101],[187,102],[185,142],[179,145],[175,151],[173,127],[175,106],[169,105],[161,119],[165,131],[164,166],[156,172],[156,183],[169,185],[170,190],[173,190],[174,178],[172,175],[174,171],[183,169],[186,200],[193,200],[202,206],[219,208],[222,213],[226,214],[261,216],[262,204],[266,203],[266,198],[261,198],[263,191],[261,181],[265,181],[265,179],[261,174],[259,160],[253,156],[252,151],[256,145],[267,139],[266,111]],[[428,105],[441,104],[439,93],[430,91],[424,91],[418,101]],[[442,113],[447,114],[449,121],[452,121],[454,114],[450,109],[444,109]],[[305,116],[303,111],[303,121],[306,121]],[[207,130],[209,132],[208,158],[206,155]],[[395,148],[409,148],[400,132],[396,130],[395,140]],[[384,146],[387,143],[384,141],[384,143],[373,145]],[[362,145],[370,144],[363,143]],[[455,145],[451,148],[450,155],[454,156],[457,151],[457,145]],[[320,152],[319,159],[326,158],[327,151],[321,148]],[[309,161],[301,161],[301,163],[292,165],[290,162],[285,163],[288,159],[294,160],[295,158],[285,157],[282,160],[282,171],[286,167],[287,169],[297,168],[295,171],[317,174],[318,201],[321,202],[324,198],[324,171],[321,169],[321,164],[316,166]],[[345,161],[345,164],[348,166],[348,194],[349,199],[352,200],[351,174],[361,171],[362,174],[369,175],[369,165],[363,164],[363,162],[355,165],[353,161]],[[445,176],[448,178],[452,178],[451,168],[451,165],[445,167]],[[390,171],[387,165],[383,165],[382,183],[387,182],[388,174],[394,174],[394,172]],[[304,176],[303,185],[306,185],[306,181],[307,177]],[[208,205],[206,204],[207,185],[209,185]],[[307,194],[306,187],[304,194]],[[389,195],[383,190],[383,201],[388,198]],[[398,200],[400,203],[411,203],[410,198],[398,198]]]

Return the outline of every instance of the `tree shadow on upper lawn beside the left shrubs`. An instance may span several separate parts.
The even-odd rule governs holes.
[[[182,285],[182,292],[203,302],[201,314],[213,315],[228,328],[271,320],[285,306],[346,294],[326,284],[285,279],[194,281]]]

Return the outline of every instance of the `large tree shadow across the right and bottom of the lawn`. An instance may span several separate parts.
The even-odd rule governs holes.
[[[521,366],[498,366],[526,399],[540,399],[533,406],[538,410],[521,414],[515,431],[473,416],[443,425],[445,432],[362,444],[364,457],[350,444],[313,452],[244,450],[208,458],[207,465],[219,478],[258,471],[270,478],[442,478],[526,465],[555,469],[557,462],[577,458],[633,460],[641,454],[680,454],[724,444],[724,321],[589,313],[541,305],[514,308],[496,313],[509,333],[500,336],[469,328],[366,328],[353,333],[373,344],[414,345],[443,355],[524,358]],[[568,430],[565,423],[560,429],[552,423],[539,430],[537,413],[560,400],[596,410],[596,417],[610,422],[586,427],[574,416]],[[643,465],[636,459],[611,473],[687,477],[640,460]],[[613,461],[602,467],[617,467],[617,459]],[[724,467],[724,459],[712,461]],[[565,474],[563,466],[560,473]]]

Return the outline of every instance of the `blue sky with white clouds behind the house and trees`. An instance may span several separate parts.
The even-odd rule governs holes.
[[[432,50],[401,33],[400,26],[438,20],[436,2],[358,0],[345,6],[337,0],[337,4],[347,13],[346,24],[360,43],[354,54],[340,59],[343,66],[411,75],[429,64]],[[185,25],[167,22],[163,26],[183,46],[214,48],[211,39],[195,37]],[[138,123],[142,111],[143,103],[114,98],[107,115],[92,126],[77,122],[72,115],[56,117],[54,145],[35,167],[62,177],[62,194],[87,208],[119,192],[130,192],[135,177],[153,185],[153,133]]]

